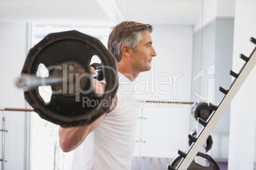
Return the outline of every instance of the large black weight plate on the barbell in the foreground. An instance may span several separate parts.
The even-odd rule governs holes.
[[[89,63],[94,55],[99,56],[105,65],[103,72],[106,86],[103,96],[91,91]],[[64,65],[68,68],[79,67],[75,68],[75,72],[69,70],[67,75],[72,74],[75,77],[76,72],[78,75],[87,75],[82,76],[83,83],[75,84],[74,87],[77,85],[80,88],[80,91],[75,91],[76,94],[67,94],[64,91],[64,84],[62,88],[52,86],[54,93],[49,103],[42,100],[38,89],[25,91],[25,99],[41,118],[64,127],[80,126],[90,124],[111,108],[112,99],[118,88],[117,64],[115,58],[98,39],[76,30],[49,34],[29,51],[22,74],[35,75],[40,63],[48,69],[49,76],[64,73],[59,71],[59,67],[64,68]],[[89,90],[90,93],[87,93]],[[84,104],[85,98],[87,101],[90,100],[90,105]]]

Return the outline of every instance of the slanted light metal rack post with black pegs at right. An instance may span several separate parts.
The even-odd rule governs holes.
[[[251,37],[250,41],[256,45],[256,39]],[[256,65],[255,51],[256,51],[256,47],[253,49],[249,57],[246,57],[243,54],[240,55],[240,58],[245,60],[245,64],[243,65],[243,67],[241,68],[238,74],[236,74],[232,70],[230,72],[230,74],[236,79],[234,79],[229,89],[224,89],[220,87],[220,91],[225,95],[224,98],[222,98],[218,106],[215,106],[212,103],[209,103],[209,106],[214,110],[211,113],[209,119],[207,121],[203,121],[203,119],[199,118],[199,123],[202,124],[204,128],[201,130],[201,133],[197,135],[197,137],[194,137],[191,134],[188,134],[188,138],[193,141],[192,145],[190,145],[190,148],[188,149],[187,152],[182,152],[181,150],[178,150],[178,154],[181,157],[183,157],[183,159],[181,159],[180,163],[176,167],[167,165],[167,168],[169,170],[178,170],[178,169],[185,170],[190,166],[191,162],[194,160],[194,157],[196,157],[197,153],[199,152],[200,148],[203,146],[204,142],[210,135],[211,131],[219,121],[220,117],[222,117],[222,115],[224,114],[225,110],[231,103],[232,99],[238,92],[239,88],[242,86],[246,77],[250,74],[253,67]]]

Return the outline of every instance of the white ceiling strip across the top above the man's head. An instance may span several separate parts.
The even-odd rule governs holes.
[[[202,0],[0,0],[0,22],[195,25]]]

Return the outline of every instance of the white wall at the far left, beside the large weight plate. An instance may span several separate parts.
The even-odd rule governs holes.
[[[15,86],[15,79],[20,75],[27,55],[26,28],[26,23],[0,22],[0,107],[3,108],[25,108],[23,91]],[[26,169],[27,114],[10,111],[3,113],[8,130],[5,139],[5,159],[8,162],[4,164],[5,168]],[[2,116],[1,113],[0,117]],[[0,126],[2,127],[1,121]]]

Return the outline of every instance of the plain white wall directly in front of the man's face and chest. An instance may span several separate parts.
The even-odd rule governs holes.
[[[157,56],[153,58],[152,70],[141,73],[136,79],[138,91],[149,91],[137,94],[138,100],[190,101],[192,25],[154,25],[152,39],[157,52]],[[139,84],[140,82],[142,83]],[[155,84],[156,82],[159,84]],[[164,103],[143,105],[141,108],[146,120],[138,121],[136,140],[141,139],[145,143],[136,144],[135,154],[174,158],[178,156],[178,149],[186,151],[191,107],[185,104]],[[142,129],[140,122],[143,124]]]

